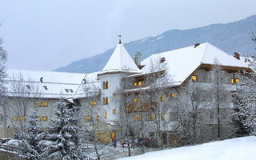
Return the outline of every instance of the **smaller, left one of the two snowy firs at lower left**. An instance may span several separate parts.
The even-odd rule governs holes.
[[[38,124],[37,110],[31,110],[26,118],[25,130],[20,134],[19,154],[21,158],[29,160],[43,159],[42,141],[46,134],[42,130],[42,125]]]

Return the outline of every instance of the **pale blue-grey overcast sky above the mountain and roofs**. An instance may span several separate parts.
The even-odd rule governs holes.
[[[171,29],[234,22],[256,0],[0,0],[7,67],[54,70]]]

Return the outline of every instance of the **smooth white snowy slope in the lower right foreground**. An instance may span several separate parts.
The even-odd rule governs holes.
[[[184,146],[119,160],[255,160],[256,137],[234,138],[198,146]]]

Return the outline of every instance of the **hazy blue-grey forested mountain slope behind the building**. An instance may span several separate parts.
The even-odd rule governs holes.
[[[142,59],[151,54],[192,46],[198,42],[210,42],[228,54],[238,52],[248,56],[254,51],[254,43],[250,37],[252,32],[256,32],[256,15],[226,24],[214,24],[190,30],[168,30],[156,37],[142,38],[128,42],[124,46],[132,57],[136,52],[141,52]],[[102,70],[113,50],[114,48],[91,58],[83,58],[55,71],[90,73]]]

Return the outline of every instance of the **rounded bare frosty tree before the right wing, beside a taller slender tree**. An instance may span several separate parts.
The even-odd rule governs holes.
[[[181,145],[202,142],[203,112],[208,106],[209,94],[197,84],[182,87],[174,107],[174,116],[178,122],[178,134]]]

